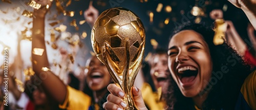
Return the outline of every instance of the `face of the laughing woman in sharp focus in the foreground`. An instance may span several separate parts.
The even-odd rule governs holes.
[[[212,72],[209,48],[202,35],[193,30],[175,34],[169,41],[168,68],[185,97],[197,96]]]

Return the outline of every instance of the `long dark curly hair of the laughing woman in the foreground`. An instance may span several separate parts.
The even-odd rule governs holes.
[[[203,36],[212,58],[212,73],[219,73],[219,76],[211,75],[211,79],[217,80],[212,80],[213,82],[207,85],[209,91],[206,92],[209,94],[202,108],[234,109],[241,86],[250,74],[250,66],[226,42],[215,46],[213,43],[215,32],[212,28],[207,28],[202,24],[187,23],[178,27],[170,37],[183,30],[194,30]],[[223,70],[227,72],[223,73]],[[168,92],[164,95],[166,97],[166,109],[195,109],[192,98],[182,95],[172,75],[169,77],[168,84]]]

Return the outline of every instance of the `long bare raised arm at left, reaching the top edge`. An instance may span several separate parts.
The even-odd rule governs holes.
[[[66,85],[51,71],[42,71],[43,67],[50,68],[46,45],[45,45],[45,16],[48,11],[47,5],[51,6],[50,0],[37,0],[41,4],[40,9],[34,9],[33,28],[32,28],[32,66],[44,89],[60,104],[65,101],[67,94]],[[44,49],[42,55],[34,54],[35,48]],[[37,63],[35,63],[35,61]]]

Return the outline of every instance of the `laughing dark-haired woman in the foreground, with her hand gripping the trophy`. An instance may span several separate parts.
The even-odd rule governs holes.
[[[166,109],[256,109],[256,72],[250,74],[249,65],[227,43],[215,46],[214,35],[203,25],[187,24],[171,36]],[[110,84],[108,89],[111,100],[104,107],[122,108],[120,88]],[[147,109],[137,87],[132,91],[137,107]]]

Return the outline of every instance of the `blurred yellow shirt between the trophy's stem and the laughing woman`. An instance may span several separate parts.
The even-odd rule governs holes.
[[[143,100],[149,109],[162,110],[164,109],[164,101],[159,99],[159,95],[152,91],[150,84],[143,83],[141,94]]]

